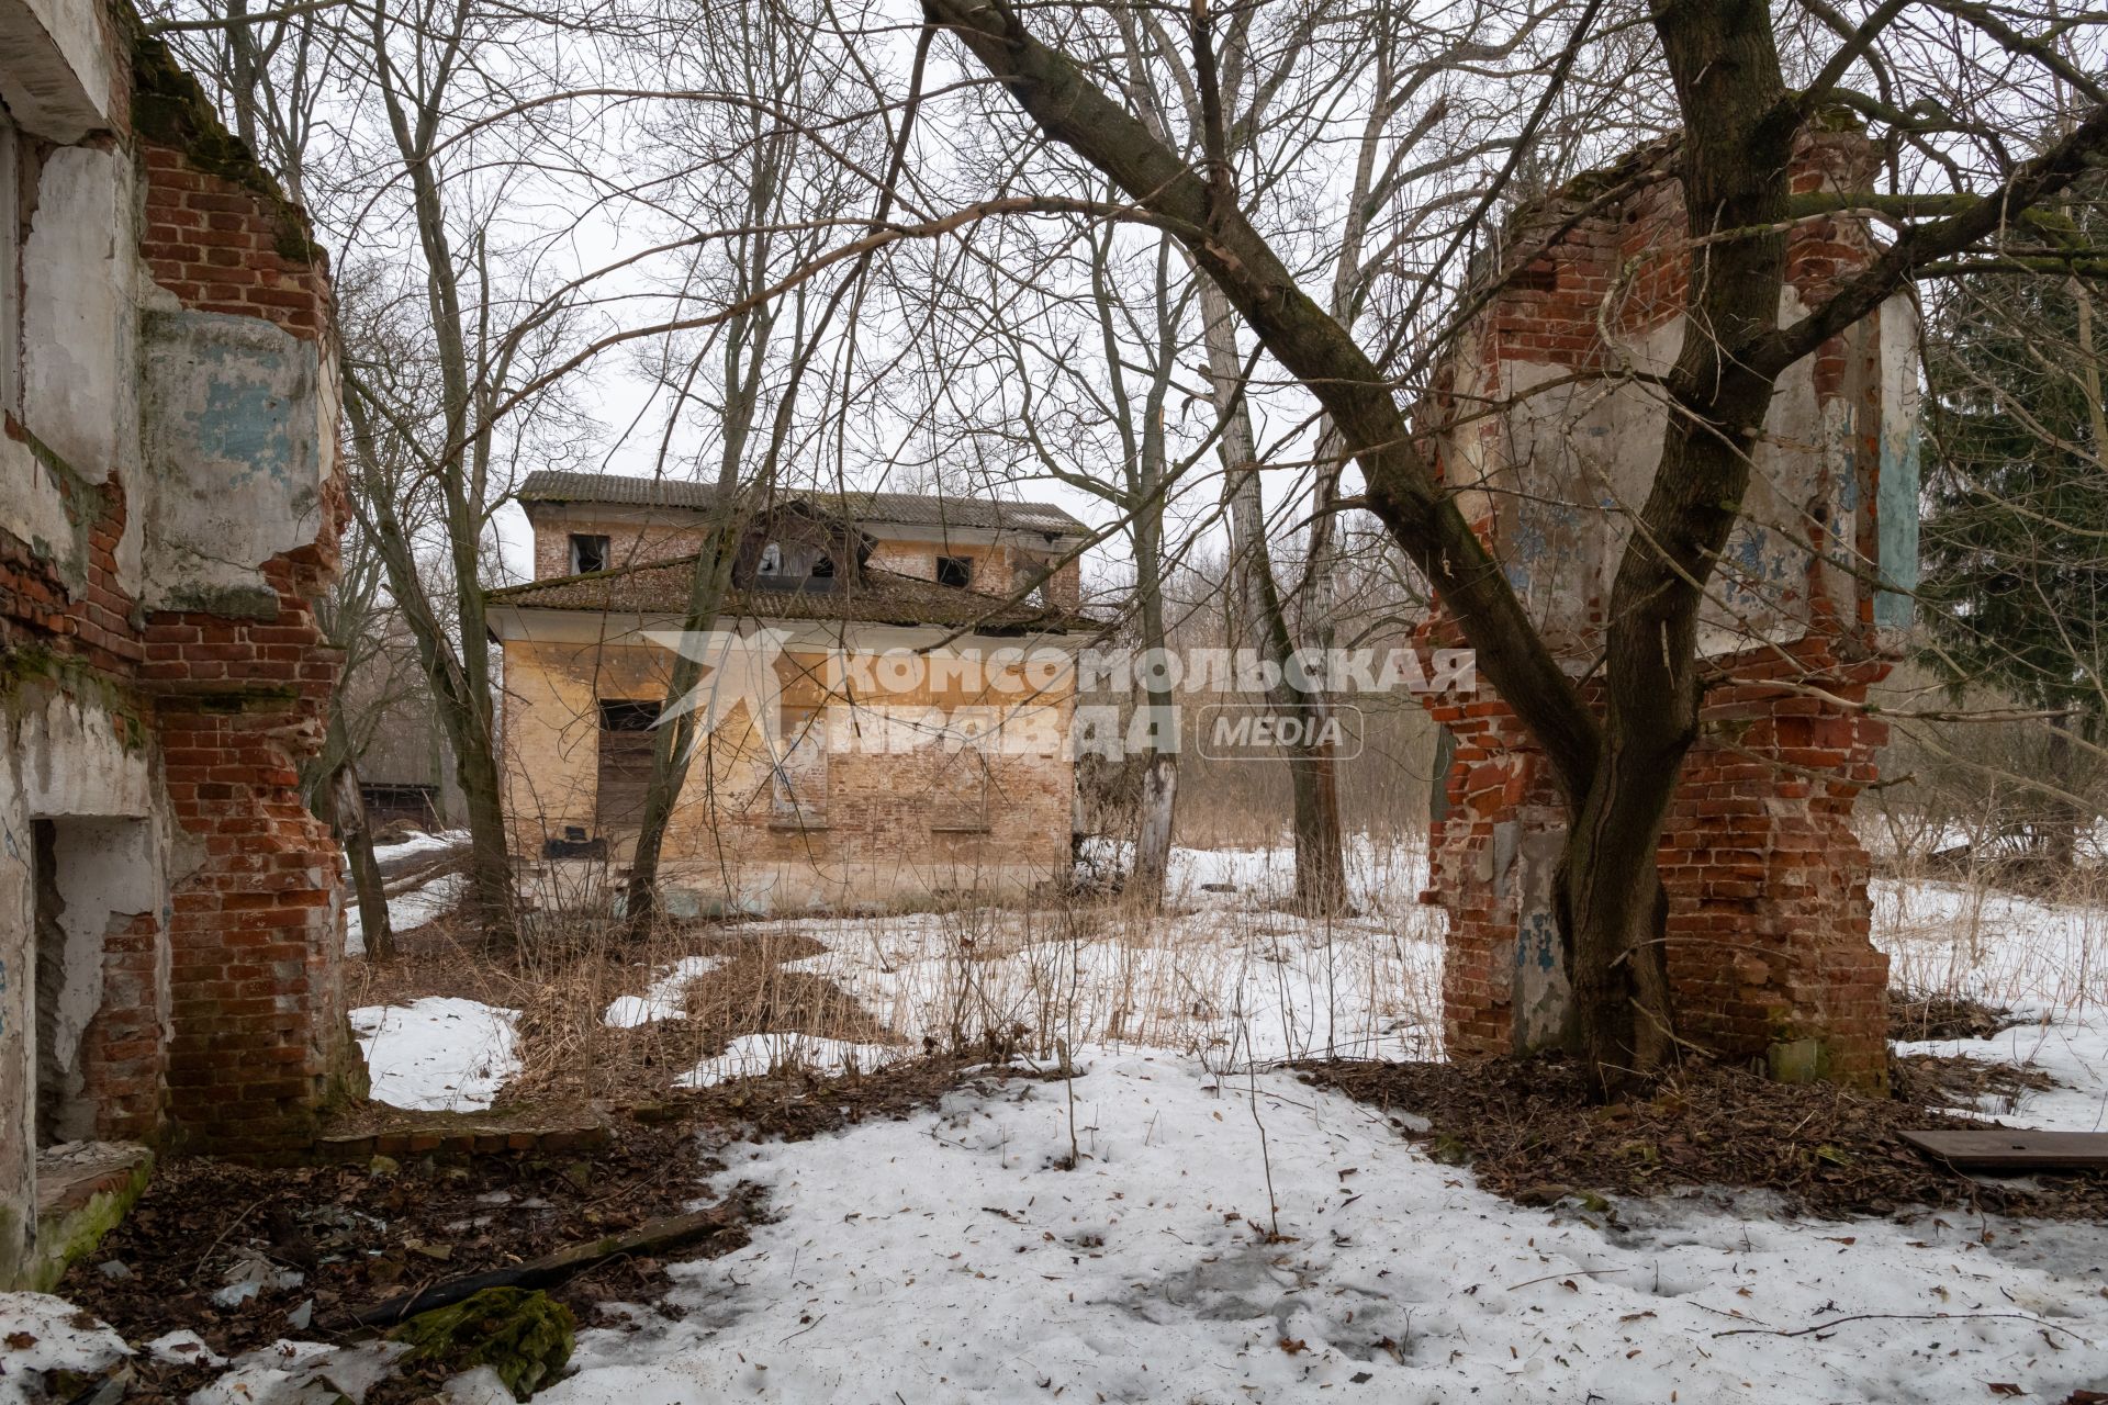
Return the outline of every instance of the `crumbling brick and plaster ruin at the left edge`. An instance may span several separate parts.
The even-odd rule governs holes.
[[[89,0],[0,0],[0,1287],[150,1148],[291,1154],[360,1079],[337,847],[331,293],[196,82]]]

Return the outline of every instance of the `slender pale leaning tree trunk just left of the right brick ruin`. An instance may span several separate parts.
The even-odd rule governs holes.
[[[1252,417],[1244,409],[1244,367],[1237,356],[1237,322],[1229,299],[1210,278],[1199,289],[1202,320],[1208,341],[1208,379],[1214,385],[1216,415],[1223,417],[1223,495],[1229,499],[1231,579],[1242,596],[1244,621],[1258,638],[1258,653],[1280,670],[1273,706],[1305,723],[1324,718],[1322,691],[1305,689],[1288,668],[1294,636],[1282,609],[1282,590],[1273,579],[1273,556],[1267,550],[1267,508],[1258,491],[1258,451],[1252,442]],[[1318,727],[1305,735],[1318,737]],[[1296,910],[1328,916],[1347,910],[1347,866],[1339,832],[1339,775],[1330,741],[1292,746],[1288,750],[1288,781],[1294,800],[1296,832]]]

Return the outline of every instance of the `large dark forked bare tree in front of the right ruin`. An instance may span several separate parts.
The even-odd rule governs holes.
[[[2013,213],[2053,198],[2108,147],[2108,110],[2093,107],[2038,156],[2011,162],[1982,200],[1904,230],[1866,272],[1781,326],[1792,141],[1899,8],[1876,11],[1796,93],[1785,86],[1769,6],[1651,6],[1682,118],[1680,175],[1693,257],[1701,263],[1686,316],[1703,335],[1684,337],[1667,377],[1678,413],[1615,575],[1602,664],[1606,701],[1596,710],[1442,491],[1391,377],[1301,291],[1237,192],[1166,147],[1010,6],[925,0],[930,23],[955,36],[1050,139],[1105,171],[1149,219],[1180,238],[1265,350],[1330,413],[1362,468],[1366,506],[1440,590],[1478,651],[1480,672],[1545,750],[1570,813],[1558,899],[1575,954],[1581,1041],[1602,1085],[1659,1066],[1674,1041],[1655,845],[1697,737],[1699,605],[1739,518],[1748,449],[1777,377],[1868,316],[1916,270],[1982,249]],[[1216,34],[1202,6],[1195,38],[1206,88]],[[1221,114],[1210,97],[1204,103]],[[1210,150],[1227,150],[1221,116],[1210,126]]]

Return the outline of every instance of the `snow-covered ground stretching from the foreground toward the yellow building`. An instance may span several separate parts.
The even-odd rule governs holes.
[[[1280,851],[1180,851],[1183,912],[1162,923],[957,912],[719,933],[816,937],[826,950],[793,967],[854,992],[900,1045],[757,1032],[683,1083],[871,1068],[961,1015],[1067,1043],[1079,1076],[989,1074],[904,1121],[719,1148],[727,1169],[698,1196],[753,1180],[776,1220],[738,1253],[672,1266],[679,1321],[609,1304],[578,1371],[540,1399],[2055,1403],[2108,1388],[2108,1226],[1819,1222],[1716,1190],[1615,1215],[1524,1209],[1377,1110],[1273,1070],[1438,1053],[1440,918],[1412,902],[1419,855],[1362,845],[1362,914],[1328,925],[1273,910],[1290,874]],[[2060,1087],[2007,1116],[2108,1129],[2108,916],[1893,883],[1874,910],[1899,984],[2030,1015],[1990,1041],[1906,1049],[2034,1064]],[[605,1022],[679,1015],[719,963],[641,969]],[[514,1057],[514,1013],[472,1001],[354,1017],[388,1102],[481,1106]]]

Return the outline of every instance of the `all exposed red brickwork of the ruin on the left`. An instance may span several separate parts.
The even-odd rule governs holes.
[[[188,310],[264,318],[320,341],[331,293],[306,217],[253,162],[228,160],[217,124],[200,133],[202,99],[175,97],[133,107],[141,128],[150,112],[162,120],[135,143],[141,261]],[[320,354],[327,364],[329,350]],[[27,438],[13,419],[8,434]],[[97,1135],[145,1140],[167,1119],[190,1148],[301,1152],[350,1047],[337,847],[299,792],[339,668],[314,605],[337,569],[341,476],[325,487],[316,541],[261,562],[276,609],[247,619],[148,613],[120,590],[118,476],[74,491],[72,508],[86,518],[84,590],[0,539],[0,647],[51,657],[61,689],[101,697],[131,744],[158,744],[179,830],[167,912],[114,923],[108,935],[103,1005],[82,1043]],[[169,1045],[156,969],[162,921]]]

